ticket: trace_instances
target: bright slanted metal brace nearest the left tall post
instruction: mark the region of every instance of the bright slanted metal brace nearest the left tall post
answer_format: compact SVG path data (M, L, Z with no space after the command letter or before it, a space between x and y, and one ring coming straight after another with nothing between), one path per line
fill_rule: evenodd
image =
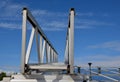
M35 35L35 28L32 28L32 32L30 35L30 40L29 40L29 44L28 44L28 48L27 48L27 53L26 53L26 63L25 64L28 64L28 61L29 61L29 56L30 56L30 52L31 52L31 48L32 48L34 35Z

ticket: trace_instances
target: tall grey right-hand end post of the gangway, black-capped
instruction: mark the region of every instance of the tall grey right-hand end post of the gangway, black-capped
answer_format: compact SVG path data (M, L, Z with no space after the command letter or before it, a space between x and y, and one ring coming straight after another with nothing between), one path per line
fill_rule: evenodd
M70 74L74 73L74 8L70 11L70 30L69 30L69 65Z

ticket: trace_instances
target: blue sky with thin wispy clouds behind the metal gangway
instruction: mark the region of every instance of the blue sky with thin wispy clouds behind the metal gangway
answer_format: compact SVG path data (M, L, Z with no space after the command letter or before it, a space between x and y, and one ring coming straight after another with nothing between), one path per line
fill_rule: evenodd
M1 0L0 69L19 70L23 7L32 12L58 51L59 61L64 59L68 14L74 7L75 65L119 66L119 4L120 0ZM32 55L31 61L36 61L35 49Z

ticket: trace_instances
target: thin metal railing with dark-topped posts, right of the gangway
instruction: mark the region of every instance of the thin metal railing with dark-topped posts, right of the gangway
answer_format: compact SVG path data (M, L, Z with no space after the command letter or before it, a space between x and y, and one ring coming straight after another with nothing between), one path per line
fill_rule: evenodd
M89 76L89 79L91 81L94 81L94 80L98 82L99 81L104 81L104 82L108 82L108 81L119 82L120 81L120 78L119 78L120 72L119 72L119 68L117 67L116 68L94 67L91 70L89 70L89 68L87 67L80 67L80 66L74 66L74 67L75 67L76 73ZM96 76L99 79L95 78Z

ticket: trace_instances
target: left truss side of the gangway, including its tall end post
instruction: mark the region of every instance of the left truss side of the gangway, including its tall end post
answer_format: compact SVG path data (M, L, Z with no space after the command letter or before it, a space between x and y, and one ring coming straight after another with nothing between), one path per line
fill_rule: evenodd
M32 32L30 35L28 46L26 46L26 33L27 33L27 20L32 25ZM40 35L40 42L38 37ZM52 46L48 38L45 36L44 32L30 13L27 8L23 8L23 22L22 22L22 57L21 57L21 73L26 72L26 66L29 62L29 56L31 53L31 48L33 44L34 36L36 36L36 45L38 52L38 62L41 63L53 63L58 62L58 53L55 48ZM27 50L26 50L27 47ZM44 55L46 51L46 62L44 62ZM52 53L51 53L52 51ZM55 56L53 56L53 53ZM52 58L51 58L52 56ZM53 58L54 57L54 58Z

